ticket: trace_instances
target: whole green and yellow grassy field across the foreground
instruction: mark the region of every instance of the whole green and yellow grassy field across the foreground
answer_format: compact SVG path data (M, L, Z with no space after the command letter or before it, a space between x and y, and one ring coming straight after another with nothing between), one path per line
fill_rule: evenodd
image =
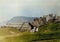
M60 23L48 23L39 27L39 31L35 33L1 28L0 36L5 37L1 42L60 42Z

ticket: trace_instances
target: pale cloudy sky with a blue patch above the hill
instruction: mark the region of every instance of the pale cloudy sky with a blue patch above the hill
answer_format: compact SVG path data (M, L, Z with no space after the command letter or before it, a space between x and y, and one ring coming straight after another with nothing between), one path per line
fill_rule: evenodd
M0 0L0 23L15 16L60 15L60 0Z

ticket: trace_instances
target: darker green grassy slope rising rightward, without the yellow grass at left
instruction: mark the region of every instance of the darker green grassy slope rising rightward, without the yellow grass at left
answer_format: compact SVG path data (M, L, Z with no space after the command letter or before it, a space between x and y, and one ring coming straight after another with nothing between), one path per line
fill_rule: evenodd
M28 40L27 40L28 39ZM7 37L7 42L60 42L60 23L48 23L35 33L25 32L18 37Z

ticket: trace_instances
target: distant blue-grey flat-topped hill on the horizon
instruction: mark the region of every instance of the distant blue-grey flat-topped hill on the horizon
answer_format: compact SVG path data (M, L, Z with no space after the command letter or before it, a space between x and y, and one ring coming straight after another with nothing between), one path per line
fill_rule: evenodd
M16 16L9 20L7 23L23 23L33 21L35 17Z

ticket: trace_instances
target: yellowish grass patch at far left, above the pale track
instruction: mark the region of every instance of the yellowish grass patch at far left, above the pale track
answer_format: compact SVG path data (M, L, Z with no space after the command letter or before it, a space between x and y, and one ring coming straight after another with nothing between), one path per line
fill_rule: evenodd
M13 33L19 33L19 31L15 28L0 28L0 36L10 35Z

